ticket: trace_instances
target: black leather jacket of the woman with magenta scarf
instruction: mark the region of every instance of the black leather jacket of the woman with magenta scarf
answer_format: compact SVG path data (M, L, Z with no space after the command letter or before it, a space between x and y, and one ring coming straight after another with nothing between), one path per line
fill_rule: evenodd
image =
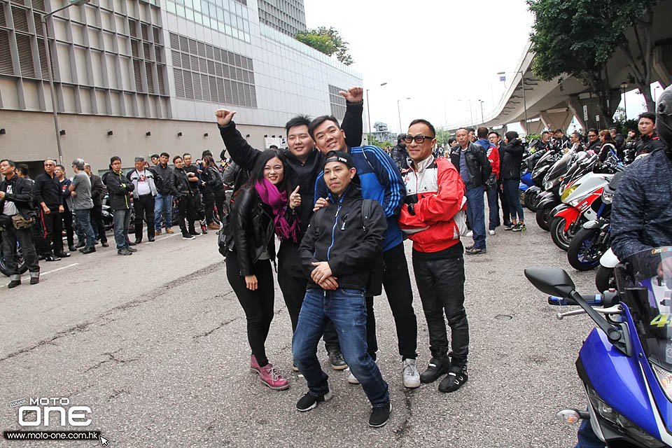
M293 213L287 208L288 221ZM245 186L232 197L230 214L231 235L240 265L240 275L253 275L252 266L263 253L275 260L275 225L271 208L261 202L253 186Z

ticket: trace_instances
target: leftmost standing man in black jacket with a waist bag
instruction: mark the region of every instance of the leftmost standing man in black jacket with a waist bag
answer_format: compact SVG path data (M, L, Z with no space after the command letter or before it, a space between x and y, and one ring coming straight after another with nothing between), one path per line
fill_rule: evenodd
M15 288L21 284L21 274L17 269L18 259L16 241L19 241L23 258L30 271L30 284L40 281L40 265L37 253L33 246L32 224L35 222L35 210L32 207L32 184L28 179L22 179L14 171L14 162L2 160L0 173L5 180L0 183L0 227L3 228L2 244L10 282L8 288ZM20 215L24 220L15 225L12 216ZM32 223L30 222L32 221Z

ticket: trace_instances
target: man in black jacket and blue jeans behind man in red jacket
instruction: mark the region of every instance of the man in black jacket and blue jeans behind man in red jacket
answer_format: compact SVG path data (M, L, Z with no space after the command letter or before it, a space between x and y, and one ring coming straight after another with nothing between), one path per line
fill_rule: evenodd
M461 127L455 137L458 145L452 148L450 160L458 168L466 188L467 216L474 237L474 244L465 253L479 255L487 252L483 195L492 167L485 149L469 140L468 130Z

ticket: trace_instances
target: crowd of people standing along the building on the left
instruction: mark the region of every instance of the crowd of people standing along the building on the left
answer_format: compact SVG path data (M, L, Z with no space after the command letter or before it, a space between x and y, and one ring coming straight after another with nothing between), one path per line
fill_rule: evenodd
M17 243L30 283L36 284L40 261L59 261L75 251L87 255L96 252L98 245L109 247L106 230L110 227L119 255L137 251L133 246L142 242L144 227L150 242L164 231L173 233L174 208L183 239L219 230L225 214L225 163L216 163L210 151L204 151L195 164L188 153L174 156L172 166L169 157L167 153L152 155L151 167L138 156L134 169L124 173L122 160L115 156L102 177L77 158L71 165L71 178L63 165L46 159L43 172L34 180L27 165L2 160L0 228L8 288L21 284ZM131 238L133 216L135 235Z

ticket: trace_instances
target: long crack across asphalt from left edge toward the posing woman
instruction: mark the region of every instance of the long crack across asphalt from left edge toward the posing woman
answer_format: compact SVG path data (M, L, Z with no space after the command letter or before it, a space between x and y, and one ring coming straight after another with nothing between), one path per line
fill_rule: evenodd
M89 330L90 325L93 325L96 321L99 321L100 319L106 319L110 320L108 316L113 314L116 311L126 311L127 309L131 309L134 307L139 306L140 304L144 304L145 302L150 302L151 300L156 300L161 295L167 293L167 291L170 288L173 288L174 286L180 286L181 284L185 283L186 281L191 282L191 281L197 281L203 276L206 276L207 274L211 274L216 267L219 267L221 265L221 262L214 262L211 265L208 265L206 267L202 267L201 269L198 269L195 272L192 272L191 274L183 275L177 279L174 279L172 281L169 281L168 283L165 283L161 286L158 286L157 288L154 288L152 290L149 290L147 293L144 293L143 295L140 295L136 300L132 300L130 302L127 302L125 304L120 304L116 307L113 307L112 309L109 309L108 311L105 311L103 314L99 314L96 318L94 318L93 321L85 322L85 323L79 323L78 325L75 325L71 328L68 328L67 330L62 330L57 332L54 336L48 338L48 339L43 339L37 344L34 344L32 346L24 347L23 349L19 349L17 351L14 351L12 353L8 353L8 355L3 356L0 358L0 363L3 361L6 361L8 359L14 358L15 356L22 355L24 353L29 353L31 351L34 351L35 349L39 349L47 344L53 344L54 341L57 339L62 339L64 337L69 337L71 335L75 335L80 332L85 332ZM116 320L116 318L112 318L112 321ZM107 322L109 323L109 322ZM106 325L107 323L104 323L103 325Z

